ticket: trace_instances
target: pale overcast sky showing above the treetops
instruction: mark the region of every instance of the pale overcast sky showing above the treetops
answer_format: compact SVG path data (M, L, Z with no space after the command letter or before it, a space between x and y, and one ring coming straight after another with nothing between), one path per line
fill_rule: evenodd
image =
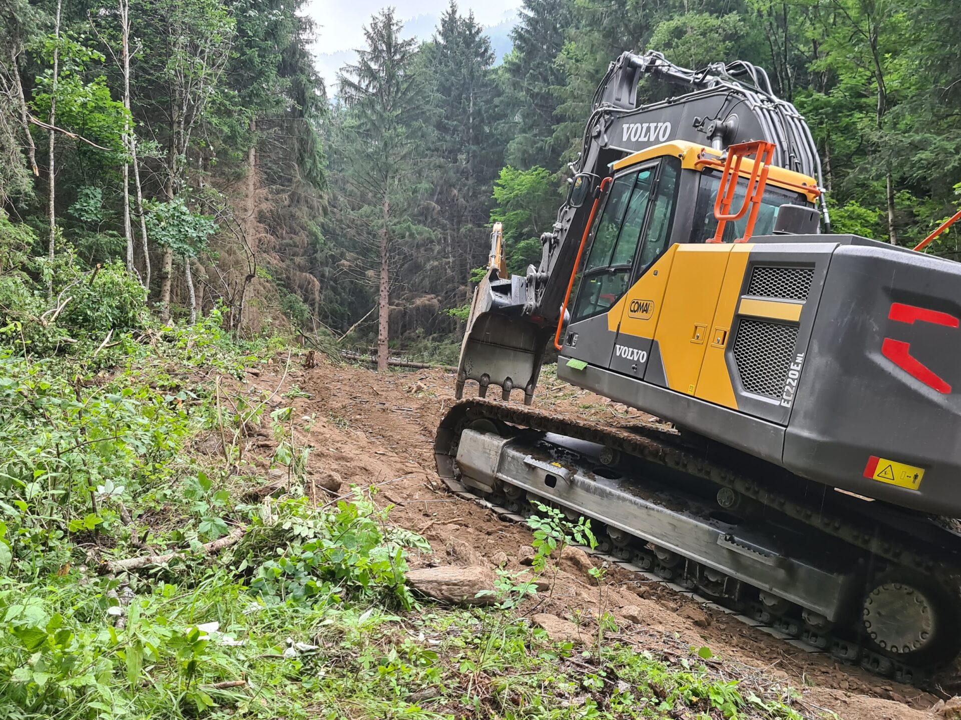
M350 51L363 47L362 28L375 12L393 5L398 17L404 21L421 15L440 17L448 3L449 0L310 0L306 12L316 24L314 53L317 67L328 83L328 91L333 89L333 78L340 65L354 59ZM521 0L460 0L457 5L462 13L473 10L481 25L490 26L512 18ZM422 24L416 23L418 30ZM428 31L423 39L430 36Z

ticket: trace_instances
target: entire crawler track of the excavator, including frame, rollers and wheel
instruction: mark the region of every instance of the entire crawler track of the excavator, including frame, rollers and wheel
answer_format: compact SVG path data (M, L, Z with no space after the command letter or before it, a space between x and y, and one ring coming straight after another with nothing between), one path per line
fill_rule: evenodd
M516 521L538 503L589 517L595 554L799 647L916 685L957 659L961 536L938 518L663 425L482 398L448 411L434 450L453 492Z

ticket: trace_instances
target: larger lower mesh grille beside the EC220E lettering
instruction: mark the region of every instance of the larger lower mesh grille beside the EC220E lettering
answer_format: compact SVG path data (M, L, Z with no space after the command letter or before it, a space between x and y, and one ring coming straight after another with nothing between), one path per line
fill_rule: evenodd
M734 340L734 358L744 389L780 397L797 339L797 325L742 320Z

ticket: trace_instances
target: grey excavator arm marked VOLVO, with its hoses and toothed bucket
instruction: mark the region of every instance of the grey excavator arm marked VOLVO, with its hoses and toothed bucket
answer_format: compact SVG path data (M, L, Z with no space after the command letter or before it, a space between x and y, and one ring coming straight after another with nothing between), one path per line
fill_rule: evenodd
M645 76L682 92L635 107L638 84ZM582 149L569 166L567 199L551 231L541 236L537 267L530 265L524 276L508 276L500 228L492 234L491 262L475 291L461 346L458 398L466 381L475 380L480 396L493 384L502 388L505 398L523 388L525 403L532 401L545 350L557 324L565 321L562 308L579 250L613 162L670 141L696 142L724 152L732 145L761 140L774 145L773 165L816 177L821 184L821 161L804 119L793 105L775 96L767 74L750 62L690 70L658 52L624 53L610 63L591 109ZM829 228L824 204L822 213Z

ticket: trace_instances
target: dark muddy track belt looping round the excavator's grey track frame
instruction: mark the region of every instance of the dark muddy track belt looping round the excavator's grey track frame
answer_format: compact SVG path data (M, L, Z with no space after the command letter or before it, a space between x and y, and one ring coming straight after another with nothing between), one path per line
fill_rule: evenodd
M438 472L453 492L490 507L506 519L526 521L526 516L533 512L533 508L527 502L529 493L533 498L545 499L546 504L554 504L557 507L562 505L557 503L555 498L546 496L547 493L542 490L543 486L537 488L540 492L535 492L532 486L524 487L521 483L518 487L520 495L518 492L513 492L515 496L521 497L521 501L518 502L505 498L503 492L496 487L485 488L482 483L474 483L475 487L472 488L463 482L465 478L460 477L457 466L460 435L479 421L501 428L508 436L533 430L539 433L557 433L579 441L604 445L613 453L627 453L664 468L672 468L709 481L719 489L728 489L746 502L757 503L792 521L802 523L812 533L837 540L839 547L848 546L851 550L856 550L862 557L870 560L869 577L882 580L897 578L901 572L904 577L918 578L922 584L928 583L932 587L936 584L937 591L941 593L939 600L950 603L949 607L941 606L942 612L947 607L947 612L956 617L958 608L961 607L957 592L959 565L955 562L958 548L949 546L950 543L942 548L943 552L935 556L931 552L925 552L930 550L929 539L918 543L922 545L921 548L911 546L910 536L906 533L896 533L892 537L892 534L881 532L883 528L879 530L878 520L874 516L844 517L832 512L836 509L825 506L824 503L819 507L810 501L805 502L803 498L775 492L768 478L758 476L756 463L754 465L748 463L749 472L734 470L729 464L709 458L702 448L684 444L677 432L653 423L641 422L629 427L604 427L598 423L572 422L562 416L516 405L484 399L464 400L448 412L438 428L434 448ZM506 442L509 442L509 438ZM531 462L531 469L535 469L536 464L544 463L544 460L531 458ZM761 466L760 469L763 470L764 467ZM544 467L540 470L548 471ZM504 479L499 478L501 481ZM505 504L496 502L497 500L505 501ZM580 512L583 508L574 507L568 510ZM785 612L785 608L780 604L783 593L777 595L770 591L771 588L758 587L742 578L722 572L716 566L700 563L691 558L690 554L683 556L682 562L678 563L677 559L670 557L673 553L670 547L658 546L654 543L656 552L650 550L649 545L646 553L637 553L636 550L632 550L626 554L623 541L619 545L618 541L611 537L613 535L623 540L623 533L619 531L628 530L629 532L629 528L623 527L624 523L612 525L611 518L598 516L598 513L594 513L593 516L591 513L581 514L602 523L605 529L613 529L611 534L602 535L604 542L595 554L605 560L618 563L628 570L645 573L647 579L656 578L658 582L678 591L690 593L697 591L696 599L723 609L724 612L729 612L738 619L747 621L748 624L766 626L765 632L770 631L771 635L781 636L791 644L802 646L811 652L829 652L839 660L859 663L871 672L909 684L924 685L936 672L937 667L944 664L944 661L907 662L899 659L897 655L892 657L890 652L885 652L873 643L868 633L860 627L858 618L845 618L846 623L838 632L839 626L835 622L837 618L827 617L811 608L806 608L799 615L798 605L789 602L786 606L788 612ZM944 537L946 540L957 539L947 531ZM640 538L640 540L647 539ZM615 554L611 555L611 551ZM662 556L664 551L669 554L671 562L661 562L659 556ZM717 592L718 586L705 583L704 578L707 576L713 577L715 582L720 579L720 582L725 585L725 590ZM732 589L728 588L729 583L734 583L735 586ZM714 592L709 591L712 588ZM743 588L749 588L749 591L743 592ZM956 623L953 627L956 627ZM948 654L956 655L956 650L955 647L951 647ZM941 655L944 654L941 653Z

